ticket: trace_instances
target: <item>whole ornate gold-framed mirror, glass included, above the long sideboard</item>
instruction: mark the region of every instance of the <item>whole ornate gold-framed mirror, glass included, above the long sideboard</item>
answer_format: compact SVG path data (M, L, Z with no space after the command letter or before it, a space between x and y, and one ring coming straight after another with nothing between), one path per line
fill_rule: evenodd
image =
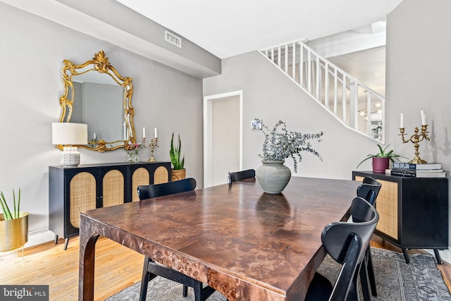
M134 144L132 78L121 76L104 51L81 65L63 62L59 122L86 123L88 129L88 145L75 146L105 152Z

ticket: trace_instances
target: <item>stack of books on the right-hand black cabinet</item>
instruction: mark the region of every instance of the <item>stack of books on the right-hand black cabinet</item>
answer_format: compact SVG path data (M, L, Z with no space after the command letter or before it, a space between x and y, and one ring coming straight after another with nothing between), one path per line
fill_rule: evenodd
M446 178L446 172L440 163L401 163L393 162L392 176L403 176L412 178Z

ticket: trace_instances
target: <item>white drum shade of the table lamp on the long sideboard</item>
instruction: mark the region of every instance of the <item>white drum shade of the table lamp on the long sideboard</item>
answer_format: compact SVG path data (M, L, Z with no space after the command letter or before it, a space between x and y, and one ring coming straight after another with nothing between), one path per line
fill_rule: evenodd
M87 124L51 123L51 143L54 145L87 145Z

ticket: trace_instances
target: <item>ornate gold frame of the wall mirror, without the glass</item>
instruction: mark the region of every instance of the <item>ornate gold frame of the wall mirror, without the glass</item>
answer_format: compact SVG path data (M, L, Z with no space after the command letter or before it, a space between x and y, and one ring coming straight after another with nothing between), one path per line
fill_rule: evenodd
M88 145L73 145L75 147L82 147L84 149L89 149L98 152L111 151L114 149L125 148L127 149L129 145L134 145L136 143L135 139L135 125L133 124L133 116L135 115L135 109L132 107L132 94L133 94L133 85L132 78L121 76L118 71L111 66L108 61L108 58L105 56L103 50L99 51L97 54L94 54L94 58L92 60L86 61L80 65L75 65L72 61L63 60L64 66L61 70L63 73L63 82L64 82L64 94L59 99L59 104L61 106L61 116L59 118L59 122L70 122L70 117L72 116L73 110L73 102L75 99L75 90L73 87L72 78L75 75L82 75L89 71L97 71L99 73L106 73L113 78L115 82L118 83L124 89L123 95L123 110L124 110L124 118L125 121L128 121L127 124L127 135L128 140L116 140L113 142L106 142L104 140L94 141L89 140ZM83 70L82 72L78 72L78 69L85 68L92 64L92 68L88 70ZM70 90L70 95L69 94ZM68 114L66 116L66 113ZM66 120L65 120L66 118ZM88 125L89 126L89 125ZM122 145L112 146L111 144L116 144L122 142ZM92 146L89 146L92 145ZM109 146L110 145L110 146ZM63 149L62 145L57 145L58 149Z

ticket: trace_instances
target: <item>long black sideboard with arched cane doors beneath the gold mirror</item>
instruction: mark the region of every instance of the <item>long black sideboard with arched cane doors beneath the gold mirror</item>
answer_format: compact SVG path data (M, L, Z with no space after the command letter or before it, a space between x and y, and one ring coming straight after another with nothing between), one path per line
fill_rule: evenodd
M171 180L171 162L49 166L49 229L65 239L78 235L80 211L139 201L138 185Z

